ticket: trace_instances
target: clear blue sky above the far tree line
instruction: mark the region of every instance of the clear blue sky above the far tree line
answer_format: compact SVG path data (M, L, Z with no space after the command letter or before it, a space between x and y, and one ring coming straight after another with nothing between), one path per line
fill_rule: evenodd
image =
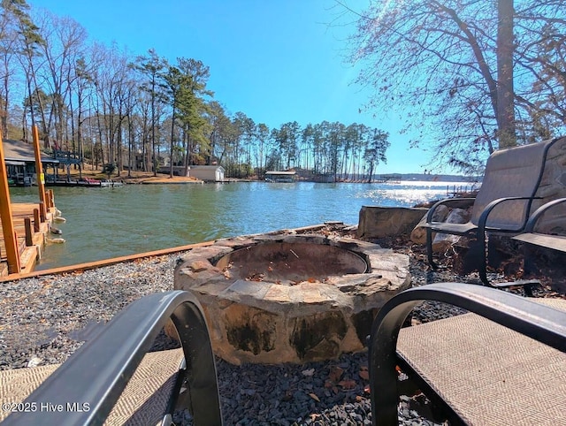
M347 0L363 11L369 0ZM200 59L210 67L208 87L229 112L279 127L321 121L363 123L390 133L387 164L379 173L421 172L427 154L409 149L395 118L402 111L364 110L371 91L354 83L348 64L353 18L333 0L28 0L85 27L91 40L174 63ZM334 22L331 25L331 22ZM362 112L360 112L362 110Z

